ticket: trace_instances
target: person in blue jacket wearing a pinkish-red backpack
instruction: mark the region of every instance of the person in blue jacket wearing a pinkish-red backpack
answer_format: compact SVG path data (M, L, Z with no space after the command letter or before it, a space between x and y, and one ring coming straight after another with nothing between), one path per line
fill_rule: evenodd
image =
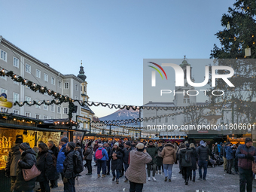
M100 177L100 170L102 169L102 178L105 178L106 175L106 162L108 160L108 153L103 148L102 143L98 143L99 148L97 148L95 154L94 154L94 161L97 161L97 174L98 178ZM99 151L99 152L98 152ZM102 153L102 158L101 159L96 159L96 154Z

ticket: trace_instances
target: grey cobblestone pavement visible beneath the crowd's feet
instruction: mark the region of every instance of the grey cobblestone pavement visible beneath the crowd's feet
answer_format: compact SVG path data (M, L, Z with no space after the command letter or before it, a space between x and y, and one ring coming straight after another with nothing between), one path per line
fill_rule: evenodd
M223 171L223 166L207 169L207 181L199 181L199 174L197 170L196 182L189 181L188 185L184 184L182 175L178 173L178 165L174 165L172 169L172 181L164 181L163 173L157 174L155 178L157 181L147 181L144 184L143 191L145 192L236 192L239 191L239 175L229 175ZM96 167L93 166L93 175L85 175L87 169L81 173L81 177L75 182L76 192L110 192L110 191L126 191L130 189L129 182L125 183L124 177L119 179L119 184L112 181L112 175L107 175L105 178L97 178ZM256 191L256 184L254 180L253 191ZM51 190L53 192L63 191L63 184L59 179L59 187Z

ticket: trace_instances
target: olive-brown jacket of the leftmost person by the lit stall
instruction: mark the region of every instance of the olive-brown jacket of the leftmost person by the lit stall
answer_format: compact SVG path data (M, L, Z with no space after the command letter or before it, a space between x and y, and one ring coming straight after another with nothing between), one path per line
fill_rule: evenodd
M15 144L9 151L5 168L5 175L8 177L16 176L18 160L20 160L19 145L20 144Z

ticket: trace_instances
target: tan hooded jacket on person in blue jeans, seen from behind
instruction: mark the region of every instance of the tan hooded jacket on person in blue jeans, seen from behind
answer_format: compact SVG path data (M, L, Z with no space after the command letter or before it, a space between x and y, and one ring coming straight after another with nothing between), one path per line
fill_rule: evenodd
M176 160L174 145L171 143L166 143L161 152L161 156L163 157L163 164L174 164Z

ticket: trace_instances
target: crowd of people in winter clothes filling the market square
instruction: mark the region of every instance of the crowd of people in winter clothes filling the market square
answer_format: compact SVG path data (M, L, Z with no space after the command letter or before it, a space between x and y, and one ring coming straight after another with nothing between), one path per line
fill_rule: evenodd
M75 178L81 176L83 169L87 169L86 175L92 175L94 161L98 178L111 174L112 181L118 184L119 178L124 177L124 182L130 182L130 192L139 192L147 179L157 181L157 173L163 172L163 181L171 182L174 164L178 164L185 185L189 181L196 181L197 169L198 180L206 181L209 160L216 156L223 159L224 171L228 174L234 174L234 164L235 173L239 174L240 191L245 191L245 188L248 192L252 191L252 162L256 157L256 148L252 146L250 138L245 139L245 145L215 143L212 149L203 141L197 146L187 141L180 144L152 140L69 142L66 137L60 140L59 148L52 141L47 144L39 142L38 146L30 148L28 143L17 138L8 154L5 172L6 176L11 177L11 191L14 192L33 191L36 181L40 184L37 191L49 192L50 188L58 187L59 175L64 191L75 192ZM41 174L25 181L23 169L31 169L33 165L37 166Z

